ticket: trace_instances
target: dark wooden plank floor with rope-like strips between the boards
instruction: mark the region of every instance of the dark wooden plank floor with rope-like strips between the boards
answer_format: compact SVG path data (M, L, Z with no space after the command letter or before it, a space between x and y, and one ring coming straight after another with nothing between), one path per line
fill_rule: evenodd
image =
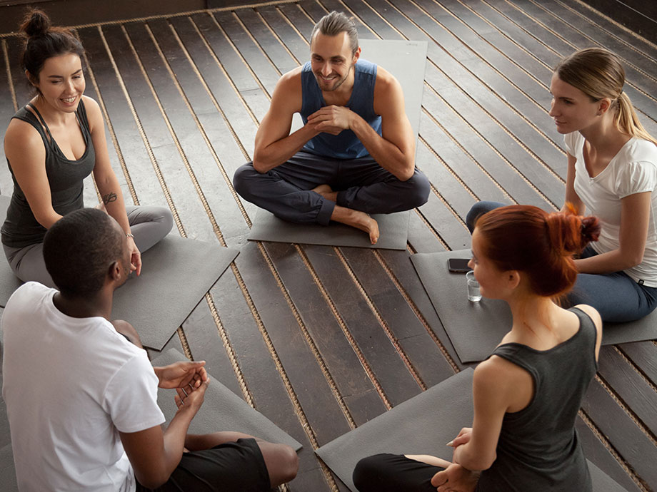
M363 39L428 41L417 165L432 190L407 251L245 239L256 207L232 175L277 79L309 58L312 26L333 9ZM657 46L577 0L302 0L77 33L126 200L170 207L184 237L241 248L167 348L206 359L304 444L291 491L345 491L313 449L463 369L409 256L468 247L464 217L480 199L561 206L566 157L547 113L561 56L621 55L626 93L657 135ZM0 46L7 122L29 90L16 37ZM0 190L11 193L6 169ZM657 490L656 385L655 341L603 347L578 419L587 456L628 491Z

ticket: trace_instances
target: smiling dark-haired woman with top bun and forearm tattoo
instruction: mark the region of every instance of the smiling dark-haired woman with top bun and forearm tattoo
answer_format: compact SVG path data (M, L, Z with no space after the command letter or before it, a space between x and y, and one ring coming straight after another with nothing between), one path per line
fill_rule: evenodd
M51 26L44 12L28 11L21 64L36 96L11 118L4 151L14 179L2 245L11 269L25 282L54 283L46 271L46 230L84 207L83 180L92 171L102 205L126 233L131 268L141 272L141 253L173 225L164 207L126 207L109 162L98 103L84 96L84 48L69 31Z

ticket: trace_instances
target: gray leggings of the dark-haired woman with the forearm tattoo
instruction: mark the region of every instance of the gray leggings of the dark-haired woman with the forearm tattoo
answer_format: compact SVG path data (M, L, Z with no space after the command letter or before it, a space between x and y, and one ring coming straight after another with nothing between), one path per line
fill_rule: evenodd
M174 225L174 217L164 207L126 206L130 230L140 252L149 250L164 238ZM44 262L44 243L25 247L4 247L9 267L23 282L34 280L46 287L55 287Z

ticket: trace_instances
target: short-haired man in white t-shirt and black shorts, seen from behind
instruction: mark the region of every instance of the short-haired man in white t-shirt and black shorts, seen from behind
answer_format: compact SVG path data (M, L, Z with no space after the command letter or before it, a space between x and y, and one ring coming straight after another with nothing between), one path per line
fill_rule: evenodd
M289 446L186 434L208 385L205 363L153 368L134 328L108 321L130 272L113 218L66 215L46 234L44 259L59 292L28 282L2 319L2 396L21 491L268 491L294 478ZM158 386L177 391L166 431Z

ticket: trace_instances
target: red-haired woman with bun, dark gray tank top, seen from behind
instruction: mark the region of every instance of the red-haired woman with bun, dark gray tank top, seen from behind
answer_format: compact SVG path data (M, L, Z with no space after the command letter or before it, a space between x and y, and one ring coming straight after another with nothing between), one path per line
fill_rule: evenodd
M554 299L576 280L573 255L599 234L597 218L573 207L511 205L478 217L470 266L484 297L508 303L513 324L474 371L472 427L448 444L453 463L364 458L353 471L358 491L592 491L575 421L596 374L602 322L591 306L563 309Z

